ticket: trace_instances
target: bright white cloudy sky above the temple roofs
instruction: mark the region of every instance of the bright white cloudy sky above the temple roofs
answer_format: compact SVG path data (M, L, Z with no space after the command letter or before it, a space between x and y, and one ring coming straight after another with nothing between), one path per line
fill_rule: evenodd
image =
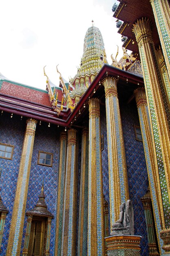
M64 79L74 77L83 54L88 27L102 33L108 63L116 55L117 33L112 6L116 0L3 0L0 24L0 72L8 79L46 88L46 77L59 85L56 65Z

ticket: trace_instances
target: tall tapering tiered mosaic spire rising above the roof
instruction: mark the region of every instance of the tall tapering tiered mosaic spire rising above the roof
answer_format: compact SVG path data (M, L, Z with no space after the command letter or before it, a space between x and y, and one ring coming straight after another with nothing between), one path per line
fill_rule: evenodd
M69 97L73 100L75 105L84 92L86 92L104 63L108 62L102 34L100 30L93 25L92 20L92 26L88 28L84 38L84 50L80 67L78 67L75 77L71 79L71 84L74 86L75 90L69 94Z

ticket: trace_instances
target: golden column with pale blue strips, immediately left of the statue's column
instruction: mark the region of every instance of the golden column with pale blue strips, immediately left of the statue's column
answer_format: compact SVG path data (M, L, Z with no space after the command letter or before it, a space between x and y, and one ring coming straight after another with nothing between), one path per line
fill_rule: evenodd
M88 101L88 104L89 155L87 255L103 256L105 254L105 243L99 99L92 98Z

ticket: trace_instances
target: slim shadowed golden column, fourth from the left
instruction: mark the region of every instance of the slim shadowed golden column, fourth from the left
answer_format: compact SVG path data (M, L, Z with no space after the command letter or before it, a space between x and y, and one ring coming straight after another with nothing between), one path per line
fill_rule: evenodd
M88 130L82 132L82 159L79 199L78 256L87 255L87 209L88 209Z

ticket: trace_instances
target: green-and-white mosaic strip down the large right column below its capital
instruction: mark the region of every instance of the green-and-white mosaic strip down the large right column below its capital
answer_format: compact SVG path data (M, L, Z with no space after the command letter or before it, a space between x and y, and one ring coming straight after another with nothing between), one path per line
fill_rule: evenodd
M165 179L165 171L163 166L163 157L161 152L161 146L160 146L160 139L159 139L159 132L157 127L157 119L155 115L155 108L154 103L152 99L152 92L150 88L150 81L149 81L149 75L144 55L144 49L143 47L140 47L141 51L141 57L144 67L144 76L146 81L146 87L148 92L148 99L149 99L149 105L150 105L150 114L152 119L152 127L154 132L154 139L155 139L155 147L156 147L156 153L157 153L157 163L158 163L158 170L159 170L159 179L160 179L160 185L161 185L161 195L163 200L163 211L164 211L164 218L165 218L165 225L166 228L170 227L170 217L169 217L169 200L168 200L168 191L167 191L167 185L166 185L166 179Z

